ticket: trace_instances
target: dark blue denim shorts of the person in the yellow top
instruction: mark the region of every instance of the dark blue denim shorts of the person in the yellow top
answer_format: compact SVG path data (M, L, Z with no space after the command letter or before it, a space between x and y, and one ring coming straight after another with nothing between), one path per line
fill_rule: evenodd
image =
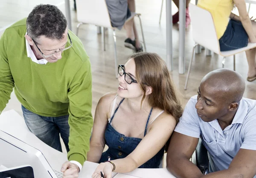
M223 36L219 39L221 51L243 48L248 45L248 35L241 22L230 20Z

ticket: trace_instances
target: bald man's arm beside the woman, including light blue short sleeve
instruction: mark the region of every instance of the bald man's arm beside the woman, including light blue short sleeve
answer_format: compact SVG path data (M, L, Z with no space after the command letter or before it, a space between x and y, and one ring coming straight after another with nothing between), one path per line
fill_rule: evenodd
M198 178L203 175L200 169L189 161L201 134L200 118L195 109L196 102L196 98L192 97L186 104L167 152L167 169L177 178Z

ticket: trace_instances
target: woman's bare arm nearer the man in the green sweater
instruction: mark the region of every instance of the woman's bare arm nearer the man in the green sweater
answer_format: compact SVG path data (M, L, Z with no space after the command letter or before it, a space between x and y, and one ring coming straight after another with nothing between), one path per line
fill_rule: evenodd
M87 154L87 161L99 163L103 149L105 147L105 130L108 125L107 113L110 110L111 102L114 100L114 95L106 94L100 98L97 104L93 133L90 139L90 151Z

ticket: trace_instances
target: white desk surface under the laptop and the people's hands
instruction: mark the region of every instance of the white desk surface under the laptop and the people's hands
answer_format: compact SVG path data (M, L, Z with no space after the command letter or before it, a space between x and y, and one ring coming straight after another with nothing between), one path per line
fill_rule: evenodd
M51 165L52 169L60 172L61 165L67 161L67 155L59 152L39 140L26 126L26 123L20 115L14 110L3 112L0 115L0 130L13 135L25 143L39 149ZM91 178L98 164L86 161L84 167L79 173L79 178ZM113 176L116 173L113 173ZM136 169L133 172L120 174L115 178L130 178L132 175L139 178L175 178L166 169Z

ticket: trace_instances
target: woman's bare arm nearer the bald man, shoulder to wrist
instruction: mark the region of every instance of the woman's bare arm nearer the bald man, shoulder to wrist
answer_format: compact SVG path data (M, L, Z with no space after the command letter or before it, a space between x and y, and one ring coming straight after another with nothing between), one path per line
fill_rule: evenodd
M165 112L149 127L148 133L140 144L126 158L113 160L115 172L131 172L151 159L166 144L175 128L176 121Z

